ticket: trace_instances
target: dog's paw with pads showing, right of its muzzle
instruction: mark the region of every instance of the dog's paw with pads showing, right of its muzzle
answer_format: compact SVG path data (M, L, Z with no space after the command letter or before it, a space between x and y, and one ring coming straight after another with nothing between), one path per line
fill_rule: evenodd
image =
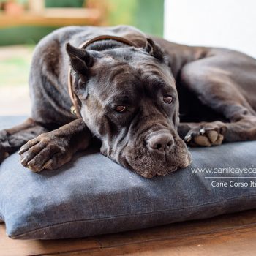
M222 144L227 127L221 121L200 124L190 129L184 140L189 146L218 146Z

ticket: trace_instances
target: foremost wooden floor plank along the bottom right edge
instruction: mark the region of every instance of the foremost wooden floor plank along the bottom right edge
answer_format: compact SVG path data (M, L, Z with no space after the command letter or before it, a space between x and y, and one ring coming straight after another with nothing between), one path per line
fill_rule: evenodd
M162 241L69 252L65 256L255 256L256 227Z

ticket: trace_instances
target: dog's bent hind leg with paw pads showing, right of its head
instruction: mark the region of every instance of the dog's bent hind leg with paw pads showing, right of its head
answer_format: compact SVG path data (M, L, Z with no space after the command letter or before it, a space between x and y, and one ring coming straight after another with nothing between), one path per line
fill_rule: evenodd
M183 86L203 103L201 108L208 106L227 121L181 123L181 138L192 146L256 140L255 69L254 59L236 52L185 65Z

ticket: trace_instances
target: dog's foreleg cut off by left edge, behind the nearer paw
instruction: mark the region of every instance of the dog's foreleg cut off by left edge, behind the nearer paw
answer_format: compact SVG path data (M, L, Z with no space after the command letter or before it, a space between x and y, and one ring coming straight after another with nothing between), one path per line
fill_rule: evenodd
M23 124L12 127L11 129L1 130L0 162L10 154L17 151L20 146L23 146L23 144L33 138L36 138L43 132L48 132L48 129L42 127L41 124L37 123L32 118L27 119Z

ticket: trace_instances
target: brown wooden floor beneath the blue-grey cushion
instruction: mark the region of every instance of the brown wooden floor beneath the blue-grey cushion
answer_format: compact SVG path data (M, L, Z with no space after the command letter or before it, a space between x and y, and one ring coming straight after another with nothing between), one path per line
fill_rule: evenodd
M22 241L5 236L0 255L256 255L256 210L89 238Z

